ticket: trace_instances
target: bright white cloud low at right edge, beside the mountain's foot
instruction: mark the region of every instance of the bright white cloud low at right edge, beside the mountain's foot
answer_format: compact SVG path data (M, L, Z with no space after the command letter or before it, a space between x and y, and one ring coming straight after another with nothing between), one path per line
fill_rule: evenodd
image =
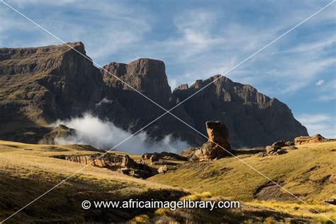
M336 117L324 113L304 113L296 118L308 129L309 135L321 134L325 138L336 138Z

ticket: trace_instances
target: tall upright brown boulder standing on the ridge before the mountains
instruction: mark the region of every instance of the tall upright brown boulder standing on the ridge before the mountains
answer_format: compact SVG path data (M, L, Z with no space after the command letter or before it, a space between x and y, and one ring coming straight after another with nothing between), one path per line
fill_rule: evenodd
M221 121L207 121L206 132L208 133L208 142L195 151L198 159L215 159L230 152L229 131Z

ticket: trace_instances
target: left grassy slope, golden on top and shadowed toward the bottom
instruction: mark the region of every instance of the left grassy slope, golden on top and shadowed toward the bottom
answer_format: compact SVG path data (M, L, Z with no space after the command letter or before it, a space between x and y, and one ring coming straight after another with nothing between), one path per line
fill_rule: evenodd
M86 148L91 150L91 147ZM88 150L79 145L30 145L0 141L0 220L84 166L49 156L96 153ZM179 189L90 166L14 215L9 223L128 220L144 211L84 211L80 206L83 200L177 199L182 195L184 192Z

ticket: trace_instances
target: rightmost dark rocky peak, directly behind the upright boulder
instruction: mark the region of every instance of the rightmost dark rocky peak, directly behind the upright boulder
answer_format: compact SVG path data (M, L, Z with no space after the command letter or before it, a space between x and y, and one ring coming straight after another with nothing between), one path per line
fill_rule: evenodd
M196 128L203 133L206 121L223 121L234 147L267 145L276 140L293 140L295 136L307 133L286 104L260 94L250 85L232 82L220 75L197 80L189 88L178 87L173 95L183 101L215 79L213 84L184 103L186 113L198 121Z

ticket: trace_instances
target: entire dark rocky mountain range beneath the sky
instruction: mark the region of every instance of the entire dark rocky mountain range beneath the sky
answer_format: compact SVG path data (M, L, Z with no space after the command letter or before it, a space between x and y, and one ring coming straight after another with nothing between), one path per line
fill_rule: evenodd
M86 54L82 43L70 44ZM172 93L164 62L159 60L139 59L128 65L112 62L104 69L97 69L67 45L1 48L0 138L24 133L21 141L34 142L45 134L43 125L81 116L86 111L120 128L135 131L164 110L119 79L169 109L216 77L197 80L190 87L181 85ZM172 113L205 135L206 121L223 121L230 131L233 147L267 145L308 135L284 103L225 77ZM146 131L153 138L170 134L191 145L204 142L194 130L170 115L160 118Z

